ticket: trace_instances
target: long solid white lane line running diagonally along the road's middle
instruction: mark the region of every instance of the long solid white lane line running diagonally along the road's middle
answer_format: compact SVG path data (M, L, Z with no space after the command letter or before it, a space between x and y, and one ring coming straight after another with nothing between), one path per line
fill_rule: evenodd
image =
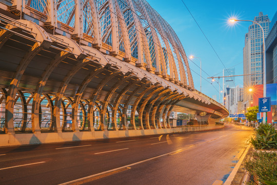
M119 167L119 168L116 168L116 169L108 170L108 171L106 171L106 172L101 172L101 173L94 174L94 175L90 175L90 176L83 177L83 178L80 178L80 179L71 180L71 181L69 181L69 182L64 182L64 183L61 183L61 184L58 184L58 185L72 184L72 183L74 183L74 182L79 182L79 181L82 181L82 180L85 180L85 179L89 179L89 178L92 178L92 177L96 177L96 176L99 176L99 175L103 175L103 174L106 174L106 173L110 173L110 172L114 172L114 171L121 170L121 169L124 169L124 168L132 167L133 165L136 165L136 164L140 164L140 163L147 162L147 161L150 161L150 160L153 160L153 159L157 159L157 158L160 158L160 157L164 157L164 156L167 156L167 155L176 153L176 152L182 152L182 151L188 150L188 149L190 149L190 147L192 147L192 146L194 146L194 145L191 145L191 146L189 146L189 147L184 147L183 149L179 149L179 150L176 150L176 151L173 151L173 152L169 152L169 153L166 153L166 154L162 154L162 155L159 155L159 156L156 156L156 157L152 157L152 158L149 158L149 159L145 159L145 160L142 160L142 161L138 161L138 162L135 162L135 163L131 163L131 164L125 165L125 166L123 166L123 167Z

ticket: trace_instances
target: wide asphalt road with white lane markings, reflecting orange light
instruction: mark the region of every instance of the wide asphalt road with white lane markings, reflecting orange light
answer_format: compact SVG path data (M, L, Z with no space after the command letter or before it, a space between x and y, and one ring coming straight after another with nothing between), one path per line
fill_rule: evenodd
M227 179L252 134L227 124L205 132L1 147L0 184L212 184Z

